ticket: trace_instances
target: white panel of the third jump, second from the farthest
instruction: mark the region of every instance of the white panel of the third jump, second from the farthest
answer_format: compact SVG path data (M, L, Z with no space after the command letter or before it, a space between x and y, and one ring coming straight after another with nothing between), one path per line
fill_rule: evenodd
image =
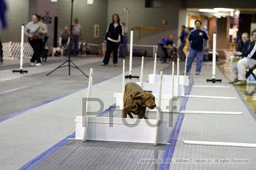
M158 94L159 83L150 83L143 82L142 85L140 82L136 82L143 90L151 90L153 94ZM179 91L178 91L179 88ZM179 94L177 94L179 92ZM174 85L174 96L184 96L185 89L182 84L179 86ZM172 95L172 85L169 83L162 83L162 95Z

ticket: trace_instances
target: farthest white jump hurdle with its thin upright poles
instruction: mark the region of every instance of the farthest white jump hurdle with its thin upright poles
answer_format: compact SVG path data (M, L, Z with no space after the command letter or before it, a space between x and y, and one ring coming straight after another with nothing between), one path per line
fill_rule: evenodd
M179 58L177 60L177 75L174 76L174 83L177 84L182 84L183 86L189 86L189 76L186 75L179 75ZM186 73L185 73L186 74ZM154 60L154 67L153 67L153 74L148 75L148 82L149 83L158 83L160 81L160 75L156 74L156 54L155 54L155 60ZM172 75L163 75L163 85L165 83L172 83Z

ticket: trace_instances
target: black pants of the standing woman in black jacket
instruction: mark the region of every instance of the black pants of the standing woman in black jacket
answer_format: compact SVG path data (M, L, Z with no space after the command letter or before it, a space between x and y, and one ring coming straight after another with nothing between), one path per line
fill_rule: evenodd
M118 46L119 46L119 43L115 43L115 42L112 42L112 41L109 41L109 40L107 41L107 49L106 49L105 57L103 59L103 63L108 64L110 54L111 54L112 50L114 50L113 63L114 64L117 63L117 60L118 60L118 57L117 57Z

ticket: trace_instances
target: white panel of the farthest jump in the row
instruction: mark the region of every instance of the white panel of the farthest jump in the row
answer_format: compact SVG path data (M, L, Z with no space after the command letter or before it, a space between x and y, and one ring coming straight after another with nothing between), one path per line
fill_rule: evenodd
M155 81L154 81L155 80ZM185 80L185 81L184 81ZM159 83L160 82L160 75L149 74L148 75L148 82L150 83ZM172 75L162 75L162 82L164 83L172 83ZM178 76L174 76L174 84L177 84ZM179 84L183 86L189 86L189 76L179 76Z

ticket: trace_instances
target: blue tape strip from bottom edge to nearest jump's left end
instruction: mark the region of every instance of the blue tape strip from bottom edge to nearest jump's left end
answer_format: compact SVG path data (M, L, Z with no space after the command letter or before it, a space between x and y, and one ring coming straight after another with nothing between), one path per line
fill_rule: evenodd
M23 165L19 170L29 170L29 169L31 169L35 164L39 163L41 160L43 160L44 158L51 155L54 151L58 150L63 145L66 145L69 138L74 138L74 137L75 137L75 132L72 133L71 135L67 136L65 139L62 139L60 142L53 145L47 151L44 151L43 153L41 153L39 156L35 157L31 161L29 161L27 164Z

